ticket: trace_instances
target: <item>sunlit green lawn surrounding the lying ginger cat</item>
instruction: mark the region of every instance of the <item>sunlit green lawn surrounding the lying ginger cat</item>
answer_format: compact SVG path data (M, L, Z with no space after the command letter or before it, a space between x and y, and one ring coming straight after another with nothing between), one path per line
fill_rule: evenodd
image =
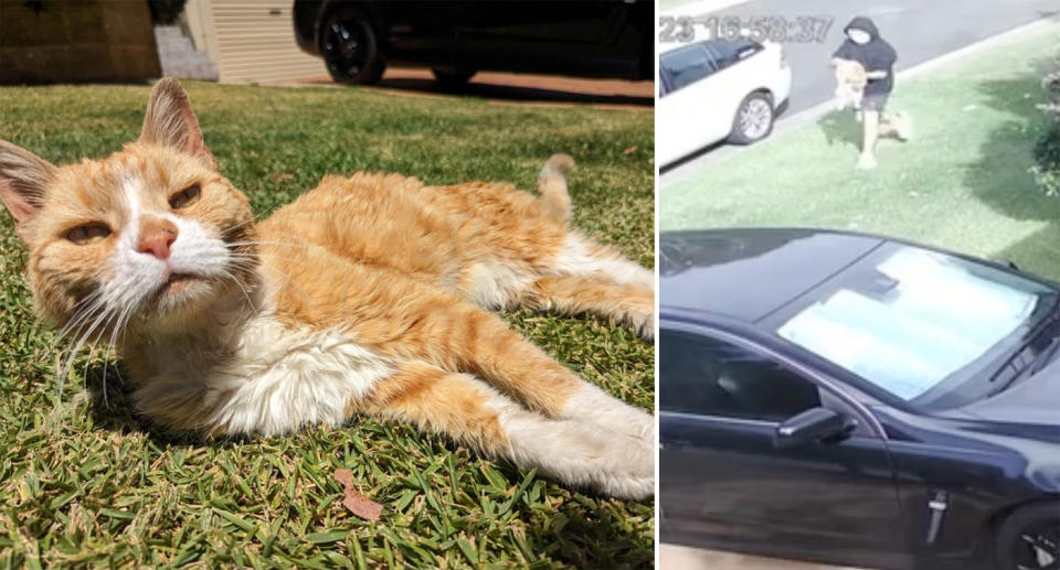
M326 173L532 190L568 152L575 225L654 265L650 110L495 106L354 88L186 84L220 170L265 215ZM57 163L135 138L148 86L0 88L0 138ZM645 567L654 505L572 492L407 426L362 420L284 438L199 442L138 418L84 355L38 324L25 254L0 214L0 568L42 566ZM651 408L653 347L591 318L509 322L583 377ZM110 358L116 365L117 358ZM87 390L85 389L87 387ZM348 514L349 467L382 519Z

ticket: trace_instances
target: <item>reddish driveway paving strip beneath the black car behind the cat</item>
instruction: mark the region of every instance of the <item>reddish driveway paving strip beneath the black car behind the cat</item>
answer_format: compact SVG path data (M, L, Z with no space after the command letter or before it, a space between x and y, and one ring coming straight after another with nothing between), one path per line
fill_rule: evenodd
M286 86L343 87L324 75L286 82ZM375 85L360 87L379 89L399 96L480 97L495 105L532 105L571 107L592 105L614 109L651 110L655 106L654 82L624 79L590 79L556 75L479 72L466 88L446 92L438 87L430 69L395 67L386 69Z

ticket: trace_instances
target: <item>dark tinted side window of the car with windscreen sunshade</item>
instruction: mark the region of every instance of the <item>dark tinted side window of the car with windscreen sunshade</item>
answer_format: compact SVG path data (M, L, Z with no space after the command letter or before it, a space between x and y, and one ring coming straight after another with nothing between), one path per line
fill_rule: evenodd
M659 336L659 384L664 411L782 421L820 406L817 386L778 363L678 331Z

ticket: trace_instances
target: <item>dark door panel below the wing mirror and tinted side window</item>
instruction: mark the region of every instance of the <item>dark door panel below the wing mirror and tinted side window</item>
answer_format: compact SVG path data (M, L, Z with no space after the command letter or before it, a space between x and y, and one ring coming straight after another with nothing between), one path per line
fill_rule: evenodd
M770 555L825 551L876 563L903 547L883 440L776 450L775 423L662 412L664 531ZM749 492L749 490L754 492Z

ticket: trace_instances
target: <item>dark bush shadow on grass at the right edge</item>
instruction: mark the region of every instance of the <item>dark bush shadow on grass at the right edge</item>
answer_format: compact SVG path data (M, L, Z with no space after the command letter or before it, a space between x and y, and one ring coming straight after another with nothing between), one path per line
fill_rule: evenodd
M988 135L976 161L964 165L964 184L981 202L1005 216L1048 224L993 257L1060 278L1060 198L1046 196L1029 172L1035 142L1050 127L1048 117L1037 107L1045 99L1040 82L1056 64L1053 57L1042 57L1032 62L1027 73L977 86L987 106L1013 118Z

